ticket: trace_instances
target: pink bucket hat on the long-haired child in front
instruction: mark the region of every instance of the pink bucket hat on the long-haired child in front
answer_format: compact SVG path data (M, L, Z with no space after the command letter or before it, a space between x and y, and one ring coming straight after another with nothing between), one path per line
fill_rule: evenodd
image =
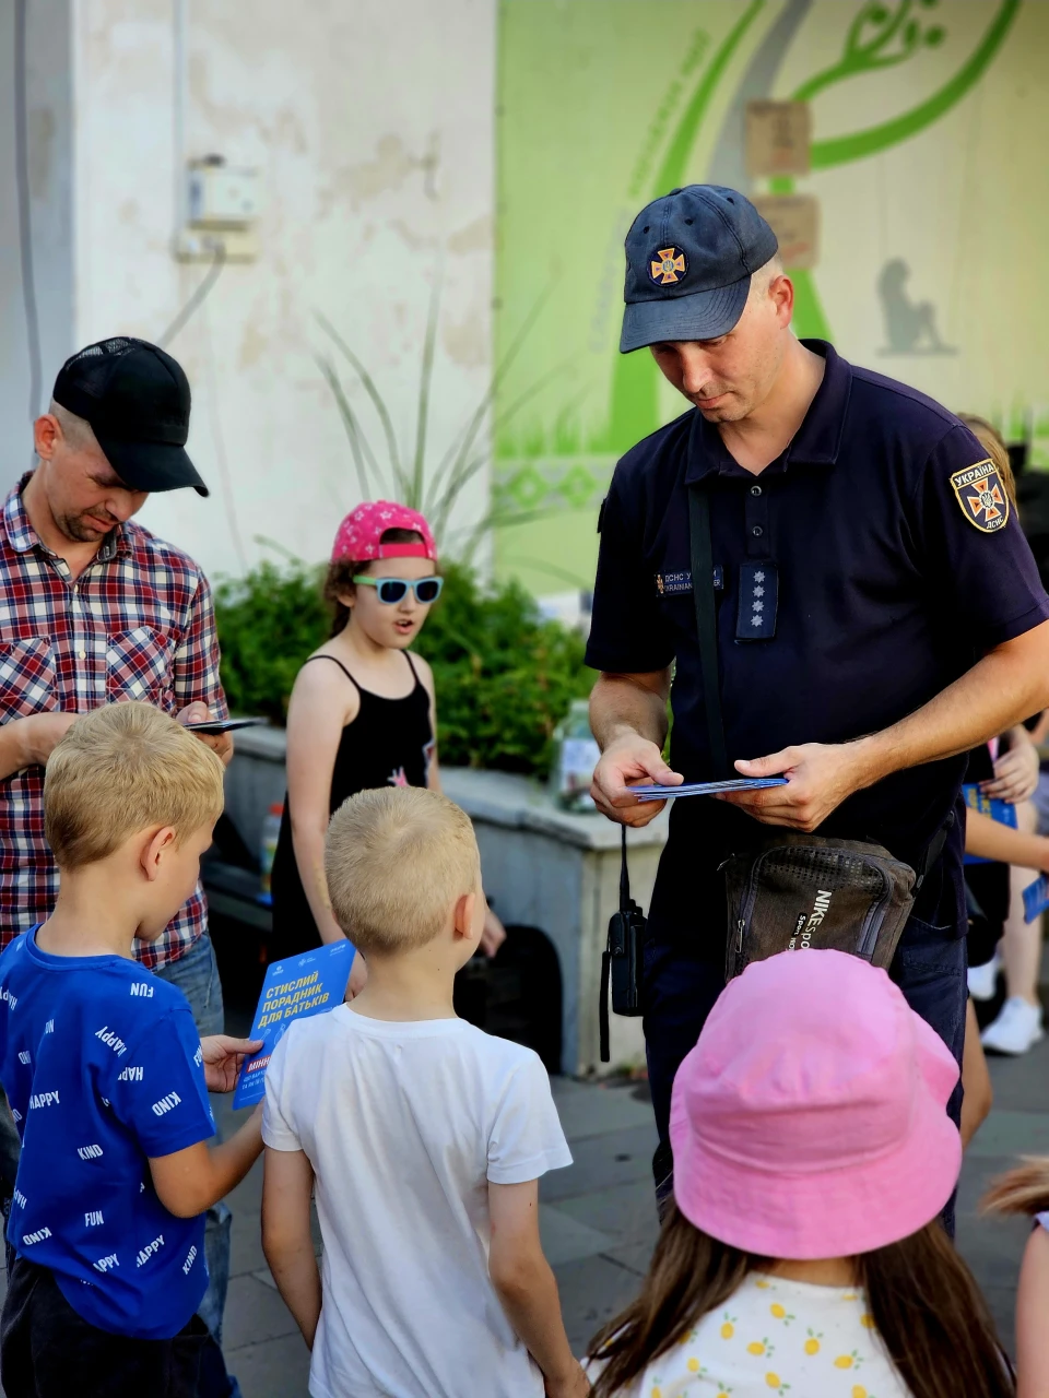
M958 1180L947 1046L884 970L780 952L730 981L677 1071L674 1197L759 1257L853 1257L934 1219Z

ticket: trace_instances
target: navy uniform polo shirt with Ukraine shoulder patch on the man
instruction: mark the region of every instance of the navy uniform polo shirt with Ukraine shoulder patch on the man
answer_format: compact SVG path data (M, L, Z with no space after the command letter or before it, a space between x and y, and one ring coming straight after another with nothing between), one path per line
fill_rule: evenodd
M1049 618L1015 512L1001 521L994 478L985 499L986 470L968 487L959 475L987 463L968 428L831 345L804 343L827 359L824 379L764 471L738 466L694 408L622 457L604 505L586 660L625 674L676 661L671 765L685 781L711 776L691 482L711 502L730 761L887 728ZM845 801L821 833L874 839L916 860L955 805L964 770L958 756L894 773ZM769 833L702 797L676 804L671 846L685 830L730 843Z

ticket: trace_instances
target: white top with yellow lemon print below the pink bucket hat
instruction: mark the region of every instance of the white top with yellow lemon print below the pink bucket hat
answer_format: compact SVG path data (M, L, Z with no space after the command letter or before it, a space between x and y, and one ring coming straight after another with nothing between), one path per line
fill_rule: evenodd
M908 1398L873 1327L859 1289L751 1272L621 1398Z

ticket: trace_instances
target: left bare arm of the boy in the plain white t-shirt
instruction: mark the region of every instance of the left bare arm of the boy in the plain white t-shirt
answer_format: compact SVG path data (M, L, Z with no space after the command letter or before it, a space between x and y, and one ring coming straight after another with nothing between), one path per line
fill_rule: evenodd
M302 1151L266 1146L263 1253L311 1349L320 1320L320 1272L309 1232L312 1191L313 1169Z

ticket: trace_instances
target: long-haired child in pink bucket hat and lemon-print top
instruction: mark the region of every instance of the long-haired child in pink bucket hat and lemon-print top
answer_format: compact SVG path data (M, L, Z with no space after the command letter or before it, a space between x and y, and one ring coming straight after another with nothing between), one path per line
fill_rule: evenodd
M674 1079L674 1206L590 1345L594 1398L1014 1394L939 1219L957 1081L857 956L783 952L730 981Z

